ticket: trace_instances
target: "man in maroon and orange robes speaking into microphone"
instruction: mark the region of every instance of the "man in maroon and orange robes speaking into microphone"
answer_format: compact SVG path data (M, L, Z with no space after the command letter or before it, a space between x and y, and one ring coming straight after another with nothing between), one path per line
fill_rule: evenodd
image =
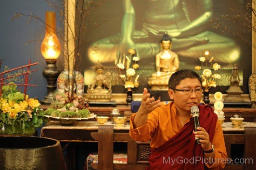
M168 82L173 102L161 105L144 88L141 106L130 118L130 136L135 141L151 140L147 170L223 169L227 162L222 126L208 105L200 105L201 77L192 70L175 72ZM190 113L198 106L200 127L194 132ZM201 145L195 143L200 138Z

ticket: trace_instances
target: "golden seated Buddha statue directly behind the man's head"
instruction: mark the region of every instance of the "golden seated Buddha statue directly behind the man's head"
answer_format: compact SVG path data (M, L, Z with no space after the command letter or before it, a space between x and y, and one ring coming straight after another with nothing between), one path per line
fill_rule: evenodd
M148 84L152 90L168 89L168 80L180 66L178 55L171 50L172 41L168 34L161 39L162 50L155 56L156 72L149 78Z

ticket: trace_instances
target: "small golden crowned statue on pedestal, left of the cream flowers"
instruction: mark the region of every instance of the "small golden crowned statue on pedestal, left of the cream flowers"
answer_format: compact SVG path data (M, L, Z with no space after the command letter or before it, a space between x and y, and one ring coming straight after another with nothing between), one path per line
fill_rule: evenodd
M110 101L111 84L108 82L110 73L104 73L104 67L101 63L95 65L96 75L92 84L88 85L87 95L88 101Z

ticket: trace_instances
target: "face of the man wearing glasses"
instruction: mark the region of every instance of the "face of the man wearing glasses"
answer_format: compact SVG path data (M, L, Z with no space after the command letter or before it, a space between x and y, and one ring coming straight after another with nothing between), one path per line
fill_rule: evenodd
M185 78L180 82L180 84L176 86L176 89L197 89L197 88L202 88L202 86L199 80L196 78ZM169 89L168 93L170 98L173 99L175 102L177 112L182 112L182 113L185 113L185 112L190 113L190 108L192 106L198 106L202 97L202 92L195 93L195 91L193 91L192 93L189 92L189 94L184 94L184 92L182 91Z

